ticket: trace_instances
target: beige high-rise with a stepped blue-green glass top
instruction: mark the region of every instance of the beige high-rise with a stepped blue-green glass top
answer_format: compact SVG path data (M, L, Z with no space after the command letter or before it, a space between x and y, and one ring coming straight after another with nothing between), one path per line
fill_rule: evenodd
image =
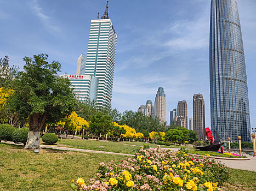
M158 117L162 122L166 122L166 94L164 94L163 87L158 88L156 94L154 117Z

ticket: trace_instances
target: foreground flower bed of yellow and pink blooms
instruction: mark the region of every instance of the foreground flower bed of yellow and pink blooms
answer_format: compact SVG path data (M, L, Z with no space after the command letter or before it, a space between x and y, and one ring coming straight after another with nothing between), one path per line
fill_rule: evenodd
M184 150L141 148L133 159L100 163L90 185L82 178L73 190L220 190L230 177L226 166L208 156L188 156Z

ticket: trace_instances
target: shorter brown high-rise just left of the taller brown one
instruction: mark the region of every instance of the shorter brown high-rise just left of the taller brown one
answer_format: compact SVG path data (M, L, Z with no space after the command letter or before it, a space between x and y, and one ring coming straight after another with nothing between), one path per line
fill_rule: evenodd
M178 119L182 122L176 121L177 126L185 127L187 129L187 102L180 101L178 102Z

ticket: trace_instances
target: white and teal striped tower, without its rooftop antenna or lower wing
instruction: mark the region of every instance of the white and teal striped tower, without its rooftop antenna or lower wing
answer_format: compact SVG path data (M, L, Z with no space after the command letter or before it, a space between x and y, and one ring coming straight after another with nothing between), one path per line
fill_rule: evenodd
M111 106L116 41L117 34L110 19L91 21L85 74L98 79L93 97L96 104L103 107Z

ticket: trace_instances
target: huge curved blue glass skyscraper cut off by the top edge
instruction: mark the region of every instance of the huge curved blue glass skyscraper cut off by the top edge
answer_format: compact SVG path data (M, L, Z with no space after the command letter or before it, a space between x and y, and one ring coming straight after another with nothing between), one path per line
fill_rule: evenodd
M210 25L212 132L251 141L243 40L235 0L212 0Z

